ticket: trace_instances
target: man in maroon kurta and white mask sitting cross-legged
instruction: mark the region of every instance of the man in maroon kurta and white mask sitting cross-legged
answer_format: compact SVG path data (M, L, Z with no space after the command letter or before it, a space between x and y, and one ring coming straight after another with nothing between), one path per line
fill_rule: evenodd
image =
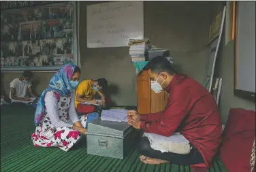
M218 107L212 95L197 81L185 74L176 73L166 58L154 58L148 62L144 70L148 70L151 89L155 92L164 89L169 92L169 99L165 110L161 112L138 114L134 110L129 111L127 114L129 124L146 133L163 136L171 136L175 131L180 132L189 140L191 146L195 148L195 152L199 154L197 159L202 157L202 160L196 161L193 160L195 156L178 155L171 152L163 153L163 156L160 156L161 152L157 152L159 157L167 158L159 159L143 155L140 156L142 162L159 164L167 163L173 159L174 162L187 160L189 162L182 162L180 165L191 165L195 171L206 171L212 165L212 158L217 153L222 132ZM140 146L143 147L143 145ZM144 152L147 154L150 151L155 150ZM154 156L153 154L150 155ZM172 158L168 158L168 156L172 156ZM175 161L176 159L178 161Z

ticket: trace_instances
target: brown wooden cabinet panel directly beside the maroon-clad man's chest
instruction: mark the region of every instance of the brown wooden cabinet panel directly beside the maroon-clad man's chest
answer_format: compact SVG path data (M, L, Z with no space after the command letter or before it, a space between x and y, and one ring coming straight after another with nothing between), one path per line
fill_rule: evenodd
M150 94L150 112L155 113L164 110L169 96L167 91L155 93L152 89L150 89Z

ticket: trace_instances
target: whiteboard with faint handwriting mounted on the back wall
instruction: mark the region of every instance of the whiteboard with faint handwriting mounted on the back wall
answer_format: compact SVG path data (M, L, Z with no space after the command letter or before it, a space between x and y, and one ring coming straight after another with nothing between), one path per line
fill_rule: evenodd
M143 1L87 5L87 47L127 47L144 38Z

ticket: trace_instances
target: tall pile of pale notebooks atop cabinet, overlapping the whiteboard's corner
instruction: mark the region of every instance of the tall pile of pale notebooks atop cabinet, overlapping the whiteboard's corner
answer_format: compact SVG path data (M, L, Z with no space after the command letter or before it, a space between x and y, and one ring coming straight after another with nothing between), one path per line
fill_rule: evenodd
M131 62L146 61L146 54L150 46L149 39L130 39L129 55L131 56Z

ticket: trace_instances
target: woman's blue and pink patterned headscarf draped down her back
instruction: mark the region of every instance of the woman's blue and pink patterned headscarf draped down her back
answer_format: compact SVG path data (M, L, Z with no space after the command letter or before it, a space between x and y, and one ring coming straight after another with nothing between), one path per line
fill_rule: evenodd
M61 67L61 69L54 74L50 83L40 95L38 100L37 109L35 110L35 125L38 125L40 121L44 118L44 96L47 91L53 91L58 93L61 97L68 97L72 93L72 89L69 85L69 81L74 74L76 68L75 64L66 64Z

